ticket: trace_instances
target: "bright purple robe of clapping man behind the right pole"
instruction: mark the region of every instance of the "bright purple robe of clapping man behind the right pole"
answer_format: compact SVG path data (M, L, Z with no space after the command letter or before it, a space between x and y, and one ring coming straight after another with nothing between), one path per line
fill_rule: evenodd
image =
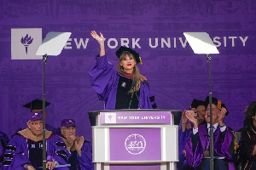
M224 134L224 135L223 135ZM234 153L234 137L233 133L230 132L230 128L226 127L226 130L221 134L220 128L214 132L214 156L223 156L227 161L229 161L229 170L235 169L232 162L232 155ZM193 132L190 133L189 138L185 144L187 161L190 167L198 167L203 159L203 153L206 149L206 145L209 145L210 138L208 136L208 129L206 124L200 125L198 127L199 139L195 148L193 148L192 141Z

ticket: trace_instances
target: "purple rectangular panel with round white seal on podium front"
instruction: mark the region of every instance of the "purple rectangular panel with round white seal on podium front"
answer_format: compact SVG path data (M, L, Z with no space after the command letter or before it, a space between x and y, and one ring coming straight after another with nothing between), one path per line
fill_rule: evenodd
M110 128L110 161L160 161L160 128Z

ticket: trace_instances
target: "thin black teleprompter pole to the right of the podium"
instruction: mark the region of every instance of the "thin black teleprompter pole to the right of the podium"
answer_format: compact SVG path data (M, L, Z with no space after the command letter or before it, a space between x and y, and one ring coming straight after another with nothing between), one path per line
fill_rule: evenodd
M211 75L211 56L207 54L209 64L209 105L210 105L210 170L213 170L213 125L212 125L212 75Z

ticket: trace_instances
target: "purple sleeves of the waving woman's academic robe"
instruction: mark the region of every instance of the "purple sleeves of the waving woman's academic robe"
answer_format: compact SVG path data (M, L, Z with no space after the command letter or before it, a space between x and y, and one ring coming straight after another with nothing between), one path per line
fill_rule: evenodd
M107 55L96 56L96 65L93 66L89 74L92 88L98 94L99 99L105 101L105 109L114 110L121 75L113 69L113 64L108 62ZM152 109L154 105L154 96L151 94L148 84L141 82L139 108Z

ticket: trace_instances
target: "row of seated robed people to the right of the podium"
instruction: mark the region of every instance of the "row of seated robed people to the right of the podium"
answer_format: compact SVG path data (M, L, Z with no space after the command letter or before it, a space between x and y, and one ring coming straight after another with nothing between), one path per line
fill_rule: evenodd
M183 111L178 132L177 169L210 169L209 97L193 99L189 110L197 115ZM224 117L229 115L226 105L212 97L214 169L256 169L256 101L243 113L244 126L234 132L224 124Z

